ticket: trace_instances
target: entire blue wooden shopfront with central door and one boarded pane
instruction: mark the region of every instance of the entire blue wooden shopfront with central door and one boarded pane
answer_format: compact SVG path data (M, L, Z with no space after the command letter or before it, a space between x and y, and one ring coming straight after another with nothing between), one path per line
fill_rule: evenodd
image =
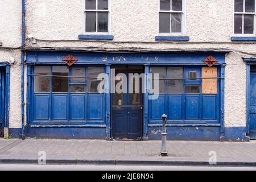
M166 114L168 139L222 140L225 53L27 51L26 136L160 139L161 115ZM70 67L63 61L67 55L77 59ZM207 93L202 77L209 68L203 62L208 56L217 63L211 67L216 71L211 78L216 80L216 92ZM138 69L146 75L147 92L139 96L136 106L129 102L130 96L124 96L117 100L125 109L113 109L112 68ZM105 80L106 93L95 90L96 72L110 78ZM160 73L162 78L159 97L154 100L149 92L150 73Z

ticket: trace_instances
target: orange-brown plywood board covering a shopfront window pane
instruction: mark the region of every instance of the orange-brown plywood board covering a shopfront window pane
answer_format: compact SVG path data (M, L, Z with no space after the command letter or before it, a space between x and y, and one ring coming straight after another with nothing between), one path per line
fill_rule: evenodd
M217 68L202 68L202 77L209 78L202 80L203 94L217 94Z

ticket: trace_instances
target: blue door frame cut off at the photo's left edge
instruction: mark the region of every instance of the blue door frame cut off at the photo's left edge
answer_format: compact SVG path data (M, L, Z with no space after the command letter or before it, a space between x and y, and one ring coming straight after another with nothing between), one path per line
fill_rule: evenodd
M0 107L1 107L1 137L3 129L9 127L9 100L10 100L10 65L7 62L0 63Z

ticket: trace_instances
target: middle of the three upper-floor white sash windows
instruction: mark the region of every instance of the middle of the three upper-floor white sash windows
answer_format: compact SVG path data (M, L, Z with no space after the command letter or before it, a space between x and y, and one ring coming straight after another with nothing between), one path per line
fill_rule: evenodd
M185 0L159 0L159 34L182 35Z

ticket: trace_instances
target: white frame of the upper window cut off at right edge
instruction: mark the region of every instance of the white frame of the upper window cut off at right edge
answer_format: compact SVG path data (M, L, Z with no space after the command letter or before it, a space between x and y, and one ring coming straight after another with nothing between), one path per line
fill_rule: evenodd
M235 11L235 0L234 0L234 19L233 19L233 34L234 36L255 36L256 35L256 0L255 1L255 10L254 13L246 13L245 12L245 0L243 0L243 12L236 12ZM242 15L242 34L235 34L234 32L234 27L235 27L235 14L241 14ZM254 15L254 22L253 22L253 34L244 34L244 19L243 19L243 15Z

